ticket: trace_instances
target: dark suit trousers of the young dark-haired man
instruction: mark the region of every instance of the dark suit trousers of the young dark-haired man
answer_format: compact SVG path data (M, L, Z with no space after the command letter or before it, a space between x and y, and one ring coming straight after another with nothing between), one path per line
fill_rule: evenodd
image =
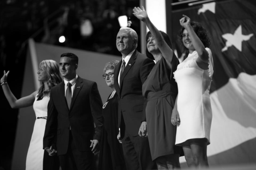
M70 131L67 153L65 155L59 155L59 163L62 170L93 170L94 154L91 151L78 151Z

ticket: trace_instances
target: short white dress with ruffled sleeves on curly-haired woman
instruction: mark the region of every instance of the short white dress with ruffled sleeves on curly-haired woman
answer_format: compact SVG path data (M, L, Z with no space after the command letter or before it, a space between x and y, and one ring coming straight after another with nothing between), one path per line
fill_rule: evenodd
M197 63L197 51L177 66L174 72L178 84L177 109L180 125L177 127L176 145L182 145L188 139L206 138L210 144L211 101L209 90L213 76L213 57L208 52L208 70L201 69Z

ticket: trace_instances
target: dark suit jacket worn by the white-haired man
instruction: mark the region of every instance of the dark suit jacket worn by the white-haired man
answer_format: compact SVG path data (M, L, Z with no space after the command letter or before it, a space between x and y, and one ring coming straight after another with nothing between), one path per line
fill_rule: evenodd
M121 65L122 60L115 68L114 85L120 99L118 104L118 126L122 138L125 129L132 136L138 135L141 122L146 121L145 108L147 101L142 96L142 84L155 63L146 55L135 50L120 77L119 86L118 75Z

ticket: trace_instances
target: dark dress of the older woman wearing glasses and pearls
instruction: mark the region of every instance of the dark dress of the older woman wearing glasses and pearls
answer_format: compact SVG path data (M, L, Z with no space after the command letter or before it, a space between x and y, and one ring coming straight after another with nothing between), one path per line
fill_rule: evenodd
M111 95L111 94L110 94ZM109 97L110 97L109 95ZM126 169L122 144L118 142L118 96L107 100L102 109L104 117L103 133L99 152L99 170Z

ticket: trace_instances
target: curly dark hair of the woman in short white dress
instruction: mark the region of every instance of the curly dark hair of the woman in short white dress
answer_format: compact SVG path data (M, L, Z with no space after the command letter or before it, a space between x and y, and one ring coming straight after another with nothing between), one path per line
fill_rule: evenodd
M211 45L210 35L209 35L209 32L203 27L203 25L198 22L195 22L195 21L191 21L190 25L192 26L196 35L202 41L205 48L209 47ZM187 49L182 42L182 34L183 34L184 29L185 28L182 27L181 30L178 32L178 38L179 38L179 42L181 43L182 52L183 53L185 52L186 54L188 54L189 49Z

